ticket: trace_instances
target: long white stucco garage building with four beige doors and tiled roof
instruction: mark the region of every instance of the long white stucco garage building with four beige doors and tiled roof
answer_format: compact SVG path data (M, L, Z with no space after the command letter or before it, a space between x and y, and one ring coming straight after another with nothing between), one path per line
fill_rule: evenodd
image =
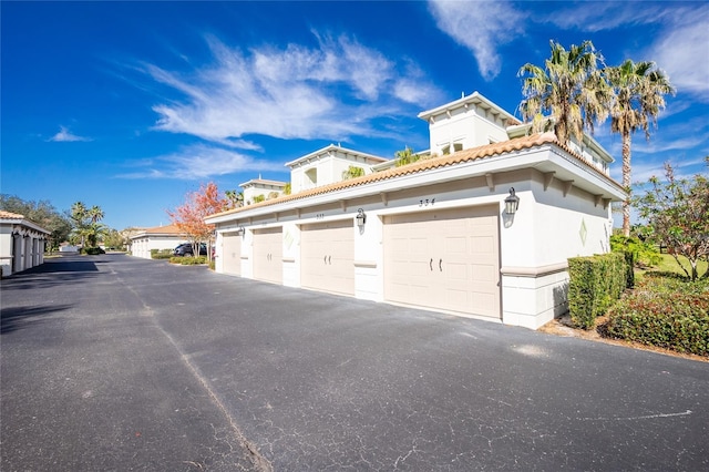
M567 258L609 250L610 155L527 135L479 93L419 116L430 158L328 146L287 164L291 195L209 216L216 270L532 329L565 312Z

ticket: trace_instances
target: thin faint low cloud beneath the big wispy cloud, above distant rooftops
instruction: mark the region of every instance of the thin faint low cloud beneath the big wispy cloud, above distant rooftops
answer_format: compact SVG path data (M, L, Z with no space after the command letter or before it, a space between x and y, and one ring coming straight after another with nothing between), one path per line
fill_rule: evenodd
M282 164L254 160L242 153L205 144L186 146L179 152L142 160L134 163L135 172L117 175L120 178L208 179L213 176L240 172L282 172Z

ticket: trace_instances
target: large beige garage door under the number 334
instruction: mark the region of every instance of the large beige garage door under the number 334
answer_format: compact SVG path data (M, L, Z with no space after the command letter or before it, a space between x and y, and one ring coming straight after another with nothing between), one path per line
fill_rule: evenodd
M384 218L384 298L501 318L496 206Z

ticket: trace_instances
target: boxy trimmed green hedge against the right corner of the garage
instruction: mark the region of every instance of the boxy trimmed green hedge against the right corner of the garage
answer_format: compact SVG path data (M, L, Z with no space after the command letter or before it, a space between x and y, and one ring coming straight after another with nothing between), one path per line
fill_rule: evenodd
M620 298L630 283L628 265L631 261L633 258L623 253L568 259L568 309L574 325L593 328L596 317L605 315Z

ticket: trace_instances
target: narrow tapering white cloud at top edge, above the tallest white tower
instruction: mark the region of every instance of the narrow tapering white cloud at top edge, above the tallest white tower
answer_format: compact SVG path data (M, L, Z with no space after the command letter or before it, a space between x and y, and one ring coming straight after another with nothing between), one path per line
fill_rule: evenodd
M523 31L525 16L506 1L432 0L429 7L438 28L471 50L483 79L502 69L497 49Z

